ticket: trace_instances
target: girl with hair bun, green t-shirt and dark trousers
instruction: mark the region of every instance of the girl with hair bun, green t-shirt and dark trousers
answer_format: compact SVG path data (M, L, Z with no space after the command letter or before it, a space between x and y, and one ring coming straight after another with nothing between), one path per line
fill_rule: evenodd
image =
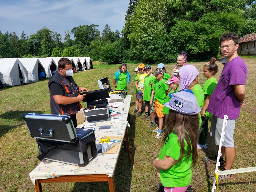
M206 82L202 86L204 92L204 102L202 105L201 118L202 123L199 128L199 139L197 144L197 149L206 149L207 148L207 136L208 136L208 120L212 116L211 113L207 112L208 104L211 98L211 95L217 85L217 80L214 77L215 73L218 72L218 65L215 63L216 58L212 58L208 63L204 65L203 75L207 78Z

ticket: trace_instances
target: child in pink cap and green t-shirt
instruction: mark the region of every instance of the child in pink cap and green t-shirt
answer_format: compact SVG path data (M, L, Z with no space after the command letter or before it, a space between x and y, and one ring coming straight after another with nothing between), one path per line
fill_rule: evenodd
M165 103L169 102L170 101L170 94L172 93L176 93L179 91L179 79L175 76L172 76L168 79L168 81L166 81L165 83L167 83L168 87L169 87L169 93L167 94L166 96L166 99L165 99ZM163 108L163 113L165 115L168 115L169 113L169 108L164 106Z

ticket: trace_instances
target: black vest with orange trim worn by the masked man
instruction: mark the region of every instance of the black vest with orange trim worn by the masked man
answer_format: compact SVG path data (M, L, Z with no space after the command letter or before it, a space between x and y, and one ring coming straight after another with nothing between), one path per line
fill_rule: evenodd
M61 114L61 115L71 115L76 114L81 109L80 102L71 103L68 105L59 105L55 102L53 95L51 93L50 89L50 83L55 82L62 86L64 90L64 95L66 97L77 97L79 95L78 90L76 88L76 83L72 76L69 76L70 81L68 81L64 76L59 74L59 71L57 71L49 80L48 87L50 91L50 105L51 105L51 114Z

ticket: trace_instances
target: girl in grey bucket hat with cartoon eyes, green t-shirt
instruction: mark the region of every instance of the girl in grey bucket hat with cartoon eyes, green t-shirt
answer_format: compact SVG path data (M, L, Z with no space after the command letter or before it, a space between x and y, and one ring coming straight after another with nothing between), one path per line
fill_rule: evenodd
M198 114L201 108L191 90L172 93L164 106L170 109L159 157L153 161L164 191L185 192L192 179L191 164L197 162Z

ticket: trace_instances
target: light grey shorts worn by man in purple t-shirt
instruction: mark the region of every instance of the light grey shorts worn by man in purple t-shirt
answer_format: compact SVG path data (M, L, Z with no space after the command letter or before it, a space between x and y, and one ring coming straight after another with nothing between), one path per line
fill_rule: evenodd
M234 147L233 135L234 135L236 122L237 122L236 119L228 119L227 126L225 126L225 129L224 129L225 137L224 137L224 141L222 142L223 147ZM210 136L215 137L216 145L220 145L222 125L223 125L223 119L212 115Z

